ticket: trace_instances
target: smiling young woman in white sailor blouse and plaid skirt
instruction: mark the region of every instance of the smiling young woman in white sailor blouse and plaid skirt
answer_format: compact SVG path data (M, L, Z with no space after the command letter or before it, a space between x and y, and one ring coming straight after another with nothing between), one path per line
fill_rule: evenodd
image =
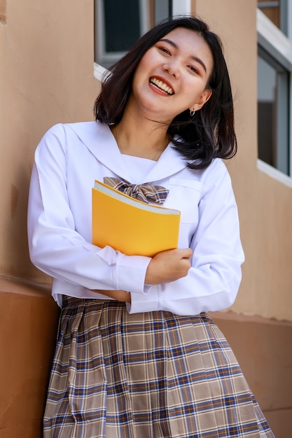
M95 116L51 128L32 172L30 254L62 307L44 437L273 437L207 315L234 302L244 261L218 36L195 17L158 24L113 66ZM167 189L179 248L92 245L91 189L107 177Z

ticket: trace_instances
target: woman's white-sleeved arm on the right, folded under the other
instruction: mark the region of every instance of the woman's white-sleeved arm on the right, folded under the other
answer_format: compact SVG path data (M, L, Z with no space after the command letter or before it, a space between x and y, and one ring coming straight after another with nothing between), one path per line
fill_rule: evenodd
M194 315L226 309L235 301L242 278L244 253L237 204L230 176L221 160L206 172L202 197L195 208L199 210L199 222L190 241L193 255L187 276L160 284L151 279L147 295L131 291L130 313L143 309ZM172 267L172 260L167 260L167 254L164 255L165 260L159 261L160 268L156 263L158 260L153 257L147 271L157 267L156 274L165 275L165 267ZM161 268L163 265L165 267Z

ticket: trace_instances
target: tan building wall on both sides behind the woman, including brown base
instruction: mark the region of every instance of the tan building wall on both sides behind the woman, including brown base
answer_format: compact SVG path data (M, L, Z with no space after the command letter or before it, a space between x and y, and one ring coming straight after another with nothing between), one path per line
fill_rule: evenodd
M237 301L215 313L277 438L289 436L291 188L258 171L256 0L193 0L221 35L235 96L239 152L227 162L246 253ZM41 437L59 309L27 250L29 176L57 122L92 120L93 1L0 0L0 438ZM256 319L254 319L256 318ZM276 433L277 431L277 433Z

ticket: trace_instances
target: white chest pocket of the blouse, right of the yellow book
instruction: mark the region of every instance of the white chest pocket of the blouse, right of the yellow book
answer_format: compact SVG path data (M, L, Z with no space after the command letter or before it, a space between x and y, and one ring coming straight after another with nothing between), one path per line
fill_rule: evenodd
M202 183L179 178L170 178L169 194L165 206L181 211L181 223L197 225L198 205L202 194Z

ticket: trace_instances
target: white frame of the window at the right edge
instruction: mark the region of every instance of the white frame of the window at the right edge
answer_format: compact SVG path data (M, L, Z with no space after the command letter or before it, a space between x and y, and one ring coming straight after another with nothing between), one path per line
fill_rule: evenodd
M292 0L288 0L287 6L292 6ZM292 10L292 9L290 9ZM289 169L290 175L286 175L278 169L260 160L257 160L257 167L260 171L268 174L277 181L292 187L292 42L283 32L275 26L266 15L257 8L256 10L258 45L266 50L285 69L290 72L290 95L289 95Z

